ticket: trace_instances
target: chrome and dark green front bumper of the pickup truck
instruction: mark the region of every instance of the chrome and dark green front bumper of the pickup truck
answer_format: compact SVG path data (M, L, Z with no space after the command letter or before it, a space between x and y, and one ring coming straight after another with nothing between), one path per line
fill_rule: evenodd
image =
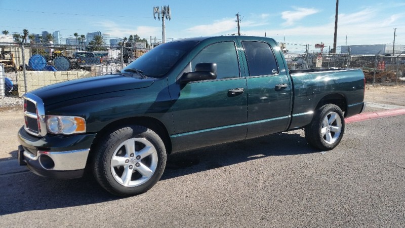
M47 135L39 138L18 132L20 165L39 176L71 179L82 177L95 134L60 136Z

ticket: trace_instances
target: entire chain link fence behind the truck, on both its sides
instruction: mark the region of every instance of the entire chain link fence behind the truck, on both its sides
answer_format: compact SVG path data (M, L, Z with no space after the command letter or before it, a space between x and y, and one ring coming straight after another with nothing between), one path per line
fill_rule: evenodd
M114 73L148 49L121 46L0 43L0 97L58 82ZM289 69L361 68L369 84L404 84L405 55L285 54Z

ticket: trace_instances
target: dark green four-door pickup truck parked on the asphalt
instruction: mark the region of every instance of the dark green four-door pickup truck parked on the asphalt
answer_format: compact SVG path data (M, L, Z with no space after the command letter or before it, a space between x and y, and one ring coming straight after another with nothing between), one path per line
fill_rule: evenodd
M309 145L333 149L364 92L360 69L288 70L273 39L184 39L121 72L26 93L18 160L53 178L90 169L108 192L132 196L181 151L302 128Z

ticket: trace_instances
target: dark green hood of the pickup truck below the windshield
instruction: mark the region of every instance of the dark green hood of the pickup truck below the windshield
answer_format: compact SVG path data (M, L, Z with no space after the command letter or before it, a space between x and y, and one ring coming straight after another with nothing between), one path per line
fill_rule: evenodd
M56 83L29 93L40 97L45 105L49 105L97 94L145 88L151 86L154 80L154 78L139 78L134 74L107 74Z

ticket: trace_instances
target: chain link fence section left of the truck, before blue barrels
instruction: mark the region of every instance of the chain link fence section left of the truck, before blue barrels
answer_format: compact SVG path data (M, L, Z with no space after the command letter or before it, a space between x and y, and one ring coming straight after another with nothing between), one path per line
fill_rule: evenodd
M0 43L0 97L73 79L115 73L148 49Z

